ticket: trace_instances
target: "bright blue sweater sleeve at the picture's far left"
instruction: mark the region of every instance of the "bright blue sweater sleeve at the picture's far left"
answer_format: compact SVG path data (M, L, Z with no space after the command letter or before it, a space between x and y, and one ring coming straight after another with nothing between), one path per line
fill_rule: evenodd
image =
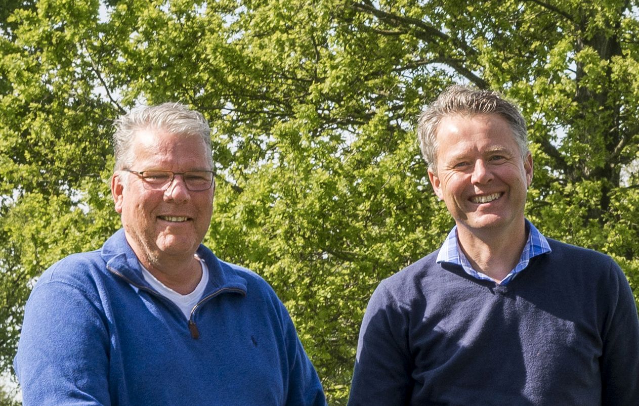
M36 285L13 361L24 405L111 404L108 335L95 302L66 282Z

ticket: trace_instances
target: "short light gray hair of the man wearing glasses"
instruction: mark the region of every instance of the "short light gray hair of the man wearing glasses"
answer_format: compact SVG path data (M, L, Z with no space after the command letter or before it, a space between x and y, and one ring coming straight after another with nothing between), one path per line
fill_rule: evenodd
M114 170L132 165L135 156L131 144L135 133L141 130L164 130L184 137L200 137L206 154L213 165L211 129L204 116L181 103L162 103L155 106L139 106L114 121L113 133L116 164Z

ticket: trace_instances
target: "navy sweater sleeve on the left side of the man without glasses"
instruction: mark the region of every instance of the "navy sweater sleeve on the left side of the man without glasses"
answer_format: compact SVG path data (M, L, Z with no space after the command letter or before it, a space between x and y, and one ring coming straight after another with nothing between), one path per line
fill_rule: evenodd
M406 405L412 391L408 315L382 282L366 308L349 406Z

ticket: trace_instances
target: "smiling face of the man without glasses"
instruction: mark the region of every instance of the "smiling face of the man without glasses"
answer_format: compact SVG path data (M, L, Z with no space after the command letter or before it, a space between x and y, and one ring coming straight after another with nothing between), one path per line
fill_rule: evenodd
M522 158L508 123L497 114L444 117L437 142L437 173L428 176L459 232L524 232L532 156Z

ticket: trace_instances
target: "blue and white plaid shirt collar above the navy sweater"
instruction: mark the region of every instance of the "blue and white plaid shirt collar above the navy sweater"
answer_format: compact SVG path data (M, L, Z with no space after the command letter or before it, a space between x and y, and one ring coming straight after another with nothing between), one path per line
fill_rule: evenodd
M526 228L528 229L528 241L526 241L526 245L523 247L520 260L514 269L499 282L500 285L507 285L511 282L512 278L528 266L528 262L532 257L550 252L550 246L548 245L548 241L546 241L546 237L544 237L539 230L535 229L535 226L528 220L526 220ZM437 255L437 263L439 264L440 262L450 262L451 264L459 265L463 267L467 274L477 279L493 280L489 278L488 275L475 271L470 265L468 258L466 258L466 255L459 250L457 226L450 230L448 237L446 237L442 244L442 248L440 248L440 252Z

